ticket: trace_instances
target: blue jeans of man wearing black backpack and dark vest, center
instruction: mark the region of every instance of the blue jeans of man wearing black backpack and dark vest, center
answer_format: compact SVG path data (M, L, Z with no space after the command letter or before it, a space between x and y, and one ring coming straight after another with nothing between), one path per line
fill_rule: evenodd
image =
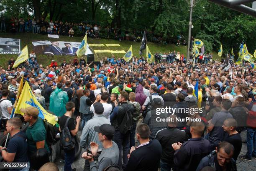
M118 166L122 167L122 147L123 147L123 165L126 167L128 163L128 151L129 151L129 137L130 132L122 134L119 130L115 130L114 141L118 145L119 159Z

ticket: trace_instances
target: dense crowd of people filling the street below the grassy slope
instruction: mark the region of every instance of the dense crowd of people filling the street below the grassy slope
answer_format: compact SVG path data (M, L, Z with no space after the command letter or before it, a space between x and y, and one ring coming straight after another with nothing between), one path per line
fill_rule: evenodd
M41 106L58 116L62 136L69 132L73 140L82 131L84 171L236 171L238 157L256 158L256 70L247 63L221 70L221 62L206 60L210 54L193 66L174 54L156 53L154 64L106 57L99 67L75 57L12 69L11 59L8 69L0 67L2 128L12 137L0 147L3 159L38 170L36 154L49 153L37 108L21 111L26 133L19 118L10 119L22 75ZM74 146L64 145L64 171L75 170Z

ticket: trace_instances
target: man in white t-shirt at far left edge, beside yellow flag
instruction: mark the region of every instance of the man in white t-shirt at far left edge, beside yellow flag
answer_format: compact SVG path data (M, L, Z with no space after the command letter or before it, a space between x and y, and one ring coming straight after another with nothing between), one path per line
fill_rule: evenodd
M0 100L0 108L2 111L2 115L0 116L0 119L2 120L4 128L6 127L6 122L8 119L10 119L13 104L10 100L8 100L9 90L3 89L2 90L2 99ZM5 130L4 135L7 134L7 131Z

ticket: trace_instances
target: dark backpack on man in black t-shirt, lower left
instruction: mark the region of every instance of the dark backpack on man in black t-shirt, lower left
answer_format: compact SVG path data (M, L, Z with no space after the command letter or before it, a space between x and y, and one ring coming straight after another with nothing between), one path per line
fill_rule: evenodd
M70 119L70 117L67 119L67 121L63 127L63 130L61 131L61 136L60 136L60 140L59 140L59 145L64 150L72 150L76 146L74 136L71 135L69 128L68 128L69 119Z

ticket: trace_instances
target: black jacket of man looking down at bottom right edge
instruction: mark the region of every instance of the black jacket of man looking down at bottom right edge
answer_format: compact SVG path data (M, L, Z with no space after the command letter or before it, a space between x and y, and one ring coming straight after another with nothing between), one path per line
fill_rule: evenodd
M211 154L208 156L205 156L201 161L200 164L197 167L196 171L200 171L205 166L210 166L214 168L216 171L222 171L220 165L218 164L217 160L217 153L216 151L212 151ZM232 158L230 163L227 165L226 171L236 171L236 161Z

